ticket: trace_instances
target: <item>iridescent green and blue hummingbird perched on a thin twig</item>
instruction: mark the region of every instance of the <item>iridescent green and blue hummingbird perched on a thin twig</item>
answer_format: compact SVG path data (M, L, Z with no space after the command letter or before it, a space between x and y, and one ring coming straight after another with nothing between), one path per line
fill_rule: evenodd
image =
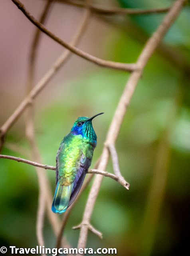
M92 120L101 114L77 118L61 141L56 155L55 195L51 206L57 214L65 212L72 204L83 184L97 144Z

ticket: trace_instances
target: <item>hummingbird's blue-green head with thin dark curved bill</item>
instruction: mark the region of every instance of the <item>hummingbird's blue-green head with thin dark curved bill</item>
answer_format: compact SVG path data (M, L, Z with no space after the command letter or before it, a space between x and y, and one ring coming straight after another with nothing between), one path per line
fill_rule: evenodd
M71 132L74 135L81 134L83 137L96 142L97 136L96 136L95 131L92 126L92 120L93 120L93 118L95 118L96 116L99 116L101 114L103 114L103 113L96 114L95 116L92 116L90 118L87 116L80 116L74 122L73 127L71 128Z

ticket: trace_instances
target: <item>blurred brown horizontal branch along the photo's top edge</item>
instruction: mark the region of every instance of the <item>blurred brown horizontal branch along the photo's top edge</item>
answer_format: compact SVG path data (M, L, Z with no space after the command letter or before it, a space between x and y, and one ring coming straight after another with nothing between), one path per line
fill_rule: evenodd
M55 2L61 2L65 4L71 4L73 6L77 7L86 7L85 2L82 1L77 1L77 0L55 0ZM147 9L147 10L142 10L142 9L132 9L132 8L119 8L119 7L114 7L114 8L108 8L108 7L99 7L97 5L91 4L89 6L92 12L95 12L97 14L105 14L105 15L114 15L114 14L136 14L136 15L142 15L142 14L154 14L154 13L163 13L163 12L168 12L170 7L165 7L165 8L153 8L153 9Z

